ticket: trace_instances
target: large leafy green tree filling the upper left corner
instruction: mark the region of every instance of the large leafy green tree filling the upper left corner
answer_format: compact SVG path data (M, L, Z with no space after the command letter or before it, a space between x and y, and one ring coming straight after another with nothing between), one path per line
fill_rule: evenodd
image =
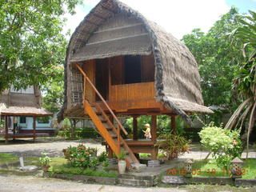
M0 93L42 85L63 63L64 19L81 0L0 1ZM66 7L66 9L64 8Z

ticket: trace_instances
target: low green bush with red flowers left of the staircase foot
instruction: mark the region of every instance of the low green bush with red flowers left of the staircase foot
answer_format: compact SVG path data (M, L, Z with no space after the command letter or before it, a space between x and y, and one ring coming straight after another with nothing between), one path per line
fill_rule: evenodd
M95 148L86 148L86 146L80 144L78 146L69 146L62 150L64 157L70 162L71 166L82 168L95 168L98 166L97 158L90 158L95 154ZM92 163L93 162L93 163Z

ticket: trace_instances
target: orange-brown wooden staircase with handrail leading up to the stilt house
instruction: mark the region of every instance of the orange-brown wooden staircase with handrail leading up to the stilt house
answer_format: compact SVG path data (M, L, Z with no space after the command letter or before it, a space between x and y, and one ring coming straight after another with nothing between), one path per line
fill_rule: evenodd
M106 115L104 110L102 110L101 106L99 106L97 103L90 104L90 102L86 100L85 96L83 99L84 112L90 116L90 118L94 122L94 125L97 127L98 132L102 135L102 138L106 140L107 144L110 146L111 150L113 150L114 154L118 155L121 150L125 150L127 166L130 166L131 163L139 163L133 151L130 150L130 147L126 144L125 140L121 136L121 130L124 134L127 134L121 122L119 122L118 118L110 109L110 106L107 105L104 98L102 98L102 95L98 92L94 84L90 82L90 79L86 76L86 73L82 70L82 68L78 66L78 64L76 66L84 76L83 95L86 95L86 82L89 82L90 86L93 87L95 93L98 94L99 98L101 98L102 102L106 106L106 109L109 110L108 114L110 114L114 121L117 122L118 127L116 128L114 126L114 122L110 121L109 116Z

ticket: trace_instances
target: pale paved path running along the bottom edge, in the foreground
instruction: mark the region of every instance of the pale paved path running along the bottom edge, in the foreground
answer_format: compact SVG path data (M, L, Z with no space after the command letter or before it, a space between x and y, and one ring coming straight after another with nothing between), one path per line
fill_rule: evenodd
M34 178L34 177L18 177L14 175L0 175L0 192L186 192L177 188L162 187L129 187L129 186L103 186L97 184L84 184L79 182L69 182L54 178Z

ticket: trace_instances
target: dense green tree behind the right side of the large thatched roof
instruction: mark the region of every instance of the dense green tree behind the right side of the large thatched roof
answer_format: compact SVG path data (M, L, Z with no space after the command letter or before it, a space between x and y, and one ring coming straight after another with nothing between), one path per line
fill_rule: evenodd
M233 70L242 54L238 45L230 45L228 34L241 25L236 20L237 16L238 10L231 8L214 23L208 33L194 29L182 38L198 62L206 106L234 105L234 102L230 103Z

